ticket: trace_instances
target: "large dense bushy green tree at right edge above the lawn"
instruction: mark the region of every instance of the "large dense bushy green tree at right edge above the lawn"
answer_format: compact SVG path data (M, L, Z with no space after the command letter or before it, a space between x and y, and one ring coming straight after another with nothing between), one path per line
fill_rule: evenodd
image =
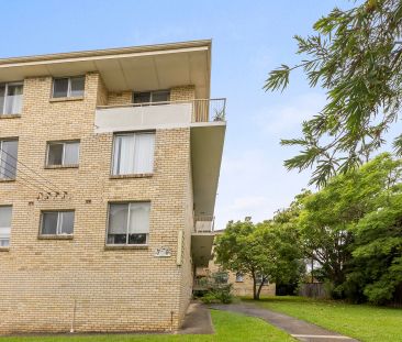
M401 167L382 154L303 198L303 251L333 295L381 304L402 282Z

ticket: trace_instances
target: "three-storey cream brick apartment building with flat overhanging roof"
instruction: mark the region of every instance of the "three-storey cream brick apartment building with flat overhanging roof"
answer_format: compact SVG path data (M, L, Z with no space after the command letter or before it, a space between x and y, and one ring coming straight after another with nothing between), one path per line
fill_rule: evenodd
M211 42L0 59L0 334L177 330L225 134Z

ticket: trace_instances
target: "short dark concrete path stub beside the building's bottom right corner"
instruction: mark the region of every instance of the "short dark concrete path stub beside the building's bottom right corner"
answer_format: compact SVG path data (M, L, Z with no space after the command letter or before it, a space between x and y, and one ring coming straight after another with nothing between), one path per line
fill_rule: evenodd
M212 334L215 333L212 326L210 310L200 302L191 302L181 329L180 334Z

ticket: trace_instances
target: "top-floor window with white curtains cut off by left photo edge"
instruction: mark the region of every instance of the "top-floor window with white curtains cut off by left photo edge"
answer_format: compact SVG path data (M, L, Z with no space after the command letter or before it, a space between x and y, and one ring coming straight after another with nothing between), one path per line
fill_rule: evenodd
M23 85L21 82L0 85L0 115L21 113L22 92Z

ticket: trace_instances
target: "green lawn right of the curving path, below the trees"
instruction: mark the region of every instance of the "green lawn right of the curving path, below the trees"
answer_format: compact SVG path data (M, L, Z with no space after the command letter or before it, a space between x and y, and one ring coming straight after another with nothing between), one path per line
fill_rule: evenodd
M348 305L301 297L269 297L253 302L360 341L402 341L402 309Z

